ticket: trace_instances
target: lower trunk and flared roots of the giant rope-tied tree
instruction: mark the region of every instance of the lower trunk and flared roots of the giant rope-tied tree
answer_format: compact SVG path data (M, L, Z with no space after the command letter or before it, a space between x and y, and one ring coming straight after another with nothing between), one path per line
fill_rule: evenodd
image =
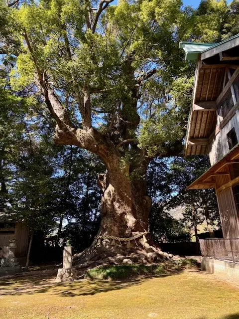
M125 169L115 166L99 175L99 185L103 190L100 230L92 246L76 255L76 263L89 260L120 263L124 259L147 263L167 258L146 233L151 200L146 195L145 181L142 178L132 181ZM109 235L116 238L107 238ZM127 242L117 239L135 235L139 237Z

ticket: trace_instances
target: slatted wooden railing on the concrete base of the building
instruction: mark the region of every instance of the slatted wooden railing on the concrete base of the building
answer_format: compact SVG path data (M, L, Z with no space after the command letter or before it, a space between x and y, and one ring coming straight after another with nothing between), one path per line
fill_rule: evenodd
M239 263L239 238L199 239L203 257Z

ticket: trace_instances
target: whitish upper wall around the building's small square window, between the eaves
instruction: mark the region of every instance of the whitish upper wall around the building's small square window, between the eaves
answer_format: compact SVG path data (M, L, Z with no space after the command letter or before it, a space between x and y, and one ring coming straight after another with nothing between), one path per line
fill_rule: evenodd
M235 128L235 132L239 141L239 110L228 121L228 123L219 131L208 146L209 158L211 165L215 164L224 155L229 152L227 134Z

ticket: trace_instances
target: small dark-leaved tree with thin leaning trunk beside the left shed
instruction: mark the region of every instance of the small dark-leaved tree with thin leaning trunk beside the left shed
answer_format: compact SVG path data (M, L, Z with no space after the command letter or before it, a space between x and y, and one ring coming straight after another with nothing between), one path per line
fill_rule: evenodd
M29 256L34 231L44 230L47 234L55 226L55 207L52 206L53 169L47 163L47 157L41 148L30 145L28 153L21 157L12 185L13 208L25 221L30 230L25 269L29 265Z

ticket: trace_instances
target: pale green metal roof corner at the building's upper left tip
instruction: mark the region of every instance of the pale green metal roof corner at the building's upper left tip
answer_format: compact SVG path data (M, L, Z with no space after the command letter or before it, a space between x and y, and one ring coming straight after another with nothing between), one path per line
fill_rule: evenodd
M185 60L197 60L199 53L211 49L218 43L179 42L180 49L186 52Z

